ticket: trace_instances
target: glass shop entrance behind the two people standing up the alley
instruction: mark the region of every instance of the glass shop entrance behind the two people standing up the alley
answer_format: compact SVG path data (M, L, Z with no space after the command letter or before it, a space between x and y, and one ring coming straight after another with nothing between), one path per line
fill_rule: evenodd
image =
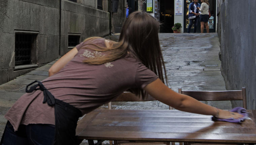
M187 33L188 32L188 24L189 24L189 19L188 19L188 7L189 7L189 4L193 2L192 0L184 0L184 3L185 3L185 8L184 8L184 13L186 15L184 15L184 33ZM201 4L201 0L198 0L198 3ZM210 13L211 13L211 17L209 19L209 22L208 22L208 25L209 25L209 30L210 30L210 33L215 33L216 32L216 0L209 0L209 10L210 10ZM194 32L194 25L191 27L191 30L190 30L190 33L193 33ZM200 22L196 28L196 33L201 33L201 30L200 30ZM204 33L206 33L206 29L204 28Z

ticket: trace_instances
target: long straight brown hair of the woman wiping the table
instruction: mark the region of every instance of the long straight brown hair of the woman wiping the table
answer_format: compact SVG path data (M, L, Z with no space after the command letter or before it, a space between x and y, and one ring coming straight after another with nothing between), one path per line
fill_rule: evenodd
M118 43L110 41L108 48L98 46L98 51L110 51L110 55L102 58L86 59L84 62L89 64L103 64L120 59L129 52L158 75L163 82L165 80L167 84L167 76L158 39L158 30L159 22L153 16L146 12L133 12L124 22ZM148 96L148 94L140 88L131 88L129 90L141 96L142 99Z

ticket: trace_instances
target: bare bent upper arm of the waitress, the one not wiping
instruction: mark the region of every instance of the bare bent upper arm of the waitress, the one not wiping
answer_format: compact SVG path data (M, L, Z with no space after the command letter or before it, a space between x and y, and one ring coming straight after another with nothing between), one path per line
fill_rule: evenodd
M77 53L76 47L68 51L64 56L62 56L53 66L49 69L49 76L54 75L59 72L70 60L74 58Z

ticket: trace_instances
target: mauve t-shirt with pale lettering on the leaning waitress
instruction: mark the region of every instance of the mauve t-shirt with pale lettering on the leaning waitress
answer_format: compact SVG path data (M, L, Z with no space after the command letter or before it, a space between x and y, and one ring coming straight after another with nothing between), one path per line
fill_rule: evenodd
M87 45L86 45L87 44ZM78 53L58 73L42 81L56 99L86 114L115 99L128 88L143 88L158 76L132 55L101 65L83 63L84 59L107 55L104 51L81 48L105 47L104 38L84 41ZM18 130L20 124L55 124L54 107L43 102L43 92L24 94L6 113L5 118Z

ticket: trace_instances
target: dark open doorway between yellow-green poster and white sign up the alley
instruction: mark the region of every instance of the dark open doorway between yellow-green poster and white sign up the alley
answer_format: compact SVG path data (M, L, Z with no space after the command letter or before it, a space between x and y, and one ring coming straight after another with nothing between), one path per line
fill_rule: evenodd
M160 0L160 33L173 33L174 0Z

